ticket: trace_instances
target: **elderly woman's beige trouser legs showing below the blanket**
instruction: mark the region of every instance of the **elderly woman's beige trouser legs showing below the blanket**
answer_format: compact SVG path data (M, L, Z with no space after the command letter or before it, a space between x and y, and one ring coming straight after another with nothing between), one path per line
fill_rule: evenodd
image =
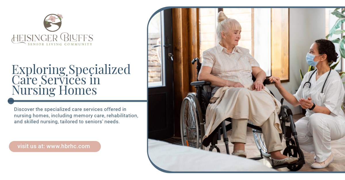
M247 123L248 119L232 119L233 133L231 135L231 143L243 142L246 144L247 138ZM274 113L266 120L266 122L260 126L265 139L265 145L267 152L273 152L277 150L283 150L282 142L279 138L277 128L274 126Z

